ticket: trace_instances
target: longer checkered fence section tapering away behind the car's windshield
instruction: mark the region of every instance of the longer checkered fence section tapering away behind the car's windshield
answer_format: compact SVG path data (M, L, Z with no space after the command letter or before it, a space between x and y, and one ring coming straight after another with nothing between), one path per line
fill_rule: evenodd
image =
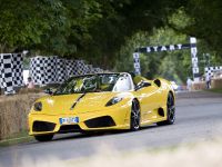
M71 76L103 72L83 60L61 59L59 57L31 58L30 76L34 85L61 84Z

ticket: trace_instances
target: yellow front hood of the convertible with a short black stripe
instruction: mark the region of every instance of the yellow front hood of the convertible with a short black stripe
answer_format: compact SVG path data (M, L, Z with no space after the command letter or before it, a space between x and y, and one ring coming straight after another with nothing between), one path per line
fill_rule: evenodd
M102 110L107 108L105 104L115 96L118 96L117 92L88 92L85 95L74 94L48 96L39 99L38 101L42 102L41 114L80 114Z

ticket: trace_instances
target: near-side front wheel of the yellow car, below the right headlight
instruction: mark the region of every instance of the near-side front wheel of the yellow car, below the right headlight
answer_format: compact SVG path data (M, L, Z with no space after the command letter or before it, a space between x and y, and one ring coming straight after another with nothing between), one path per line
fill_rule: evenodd
M130 115L130 130L135 131L139 129L140 129L140 105L137 100L133 100Z

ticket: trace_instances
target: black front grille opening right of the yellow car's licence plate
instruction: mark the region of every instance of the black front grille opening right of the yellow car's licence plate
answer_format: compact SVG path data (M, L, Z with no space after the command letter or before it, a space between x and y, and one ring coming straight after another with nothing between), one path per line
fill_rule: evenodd
M88 128L102 128L115 126L114 120L110 116L103 116L85 120L84 124Z

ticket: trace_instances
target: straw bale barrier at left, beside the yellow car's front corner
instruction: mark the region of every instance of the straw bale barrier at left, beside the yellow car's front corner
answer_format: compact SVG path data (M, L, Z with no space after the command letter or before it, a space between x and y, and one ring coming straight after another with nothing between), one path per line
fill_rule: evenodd
M27 116L32 104L42 94L0 97L0 139L27 130Z

